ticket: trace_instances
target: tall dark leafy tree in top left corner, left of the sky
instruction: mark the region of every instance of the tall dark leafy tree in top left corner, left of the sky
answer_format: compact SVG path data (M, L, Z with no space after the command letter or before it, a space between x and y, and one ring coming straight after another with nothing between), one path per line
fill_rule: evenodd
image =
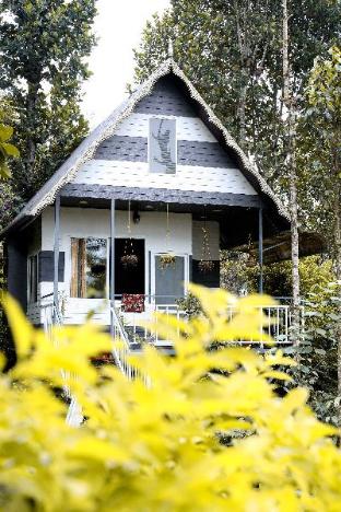
M95 0L2 0L0 88L16 108L13 186L26 200L80 142Z

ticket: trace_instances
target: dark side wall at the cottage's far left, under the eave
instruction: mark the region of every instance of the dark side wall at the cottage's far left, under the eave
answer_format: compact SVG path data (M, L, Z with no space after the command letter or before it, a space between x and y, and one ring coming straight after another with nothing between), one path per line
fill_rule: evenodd
M24 244L9 240L7 244L8 291L27 310L27 249Z

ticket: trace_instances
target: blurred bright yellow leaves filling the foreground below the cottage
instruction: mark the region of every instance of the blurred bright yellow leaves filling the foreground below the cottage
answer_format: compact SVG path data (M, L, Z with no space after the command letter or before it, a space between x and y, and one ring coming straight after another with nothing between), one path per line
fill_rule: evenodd
M234 298L192 291L201 317L158 318L176 357L146 347L134 358L148 387L91 365L111 342L94 326L58 328L52 346L4 301L19 363L0 379L2 510L339 510L338 431L315 418L304 388L275 394L273 382L287 379L279 366L292 360L212 349L212 340L257 336L264 298L235 302L228 323ZM54 393L60 368L78 374L70 385L87 418L79 429Z

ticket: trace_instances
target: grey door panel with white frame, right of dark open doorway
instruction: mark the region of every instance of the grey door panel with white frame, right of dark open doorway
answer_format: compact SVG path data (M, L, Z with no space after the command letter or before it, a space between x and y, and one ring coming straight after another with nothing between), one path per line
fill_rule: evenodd
M162 255L154 255L153 294L156 304L175 304L183 299L188 283L188 256L176 255L169 265L163 265Z

